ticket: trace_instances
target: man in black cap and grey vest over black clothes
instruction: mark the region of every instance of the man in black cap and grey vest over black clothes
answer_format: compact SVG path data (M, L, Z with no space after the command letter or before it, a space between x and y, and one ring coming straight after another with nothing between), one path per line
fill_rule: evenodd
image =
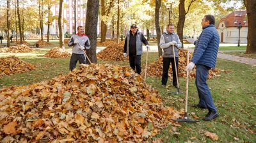
M149 48L148 41L145 36L138 31L135 24L132 24L129 33L127 33L124 43L124 57L129 56L129 63L132 70L136 70L136 73L141 73L141 55L142 55L142 43Z

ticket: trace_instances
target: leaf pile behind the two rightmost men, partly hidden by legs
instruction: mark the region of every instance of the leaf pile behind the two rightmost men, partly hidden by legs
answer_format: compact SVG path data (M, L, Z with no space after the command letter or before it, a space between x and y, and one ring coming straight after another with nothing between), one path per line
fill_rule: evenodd
M185 71L185 68L187 66L187 52L188 50L180 49L179 50L179 66L178 66L178 74L179 77L187 77L187 73ZM191 61L192 55L189 54L189 61ZM209 70L208 79L212 79L214 77L218 77L221 70L218 68ZM161 77L163 74L163 57L159 57L157 61L154 61L153 63L149 64L147 67L147 74L149 76L157 76ZM170 64L168 76L172 77L172 64ZM196 76L196 68L193 69L193 71L189 72L190 78L195 78Z

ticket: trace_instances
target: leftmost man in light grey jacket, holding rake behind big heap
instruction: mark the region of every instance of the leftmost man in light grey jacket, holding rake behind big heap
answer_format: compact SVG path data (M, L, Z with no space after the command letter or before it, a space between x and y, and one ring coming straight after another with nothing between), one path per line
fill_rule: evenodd
M77 34L74 34L70 41L68 41L68 46L72 48L72 56L70 58L69 70L72 71L76 68L76 63L79 61L80 64L86 64L86 57L84 55L84 49L90 49L90 41L88 36L84 34L83 26L77 27Z

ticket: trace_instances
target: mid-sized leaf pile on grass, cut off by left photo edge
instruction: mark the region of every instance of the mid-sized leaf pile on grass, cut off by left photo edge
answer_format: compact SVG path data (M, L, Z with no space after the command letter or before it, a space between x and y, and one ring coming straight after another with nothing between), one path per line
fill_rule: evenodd
M4 75L13 75L14 73L24 73L30 70L35 70L35 66L26 63L15 56L0 57L0 67L0 78Z

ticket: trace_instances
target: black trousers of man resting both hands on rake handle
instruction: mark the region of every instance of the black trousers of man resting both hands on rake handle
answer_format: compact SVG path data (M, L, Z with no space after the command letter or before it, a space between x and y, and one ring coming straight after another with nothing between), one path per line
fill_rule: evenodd
M177 67L177 73L178 73L178 63L179 63L179 57L175 57L176 60L176 67ZM170 67L170 63L172 63L172 84L173 86L177 86L177 78L176 78L176 72L175 72L175 64L174 64L174 58L173 57L164 57L163 58L163 75L162 75L162 85L167 84L168 80L168 71ZM179 73L178 73L179 75Z

